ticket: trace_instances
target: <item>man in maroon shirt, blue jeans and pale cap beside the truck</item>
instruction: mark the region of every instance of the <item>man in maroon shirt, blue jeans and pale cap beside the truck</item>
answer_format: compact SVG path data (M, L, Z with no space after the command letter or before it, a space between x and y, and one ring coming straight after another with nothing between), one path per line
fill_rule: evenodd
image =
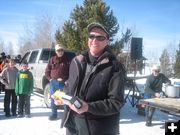
M64 88L64 82L68 79L70 59L64 54L62 45L55 45L56 55L51 57L45 70L46 78L50 84L50 95L53 95L56 90ZM51 98L52 114L49 120L57 119L57 106Z

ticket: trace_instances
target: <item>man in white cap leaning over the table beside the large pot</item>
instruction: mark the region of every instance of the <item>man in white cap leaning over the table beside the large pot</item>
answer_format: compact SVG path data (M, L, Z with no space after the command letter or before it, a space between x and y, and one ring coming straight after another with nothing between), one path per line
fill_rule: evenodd
M159 66L154 65L152 67L152 74L146 80L144 98L162 97L164 95L162 91L163 83L171 84L171 81L163 73L160 73ZM155 108L153 107L146 108L146 126L151 126L154 111Z

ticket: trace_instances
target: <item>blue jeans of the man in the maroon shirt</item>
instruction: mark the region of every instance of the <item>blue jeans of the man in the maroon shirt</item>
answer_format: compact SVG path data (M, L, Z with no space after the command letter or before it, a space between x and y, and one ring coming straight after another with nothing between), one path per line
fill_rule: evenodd
M64 81L51 80L50 81L50 95L53 95L54 92L58 89L63 90ZM54 104L54 100L51 98L51 111L53 116L57 116L57 106Z

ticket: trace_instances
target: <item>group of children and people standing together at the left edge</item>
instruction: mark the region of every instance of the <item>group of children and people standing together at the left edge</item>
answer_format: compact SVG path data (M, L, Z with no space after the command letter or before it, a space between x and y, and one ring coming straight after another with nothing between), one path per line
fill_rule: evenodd
M6 117L30 117L30 96L33 91L33 75L28 63L23 62L18 69L19 60L1 53L1 91L5 92L4 112ZM17 113L18 105L18 113ZM24 112L25 111L25 112Z

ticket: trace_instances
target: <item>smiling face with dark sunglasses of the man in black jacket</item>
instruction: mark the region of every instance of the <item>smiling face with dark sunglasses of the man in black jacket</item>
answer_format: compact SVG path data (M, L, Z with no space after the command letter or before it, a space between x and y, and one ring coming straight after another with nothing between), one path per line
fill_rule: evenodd
M106 33L100 28L93 28L89 33L88 47L92 56L99 56L108 45Z

